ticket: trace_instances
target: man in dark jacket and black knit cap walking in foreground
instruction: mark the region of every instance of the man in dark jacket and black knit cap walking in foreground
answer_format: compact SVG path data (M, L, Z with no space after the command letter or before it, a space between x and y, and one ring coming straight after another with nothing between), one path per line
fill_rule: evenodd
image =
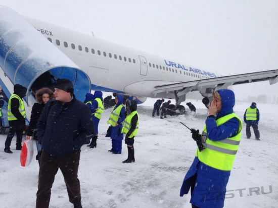
M42 154L36 208L49 207L51 187L60 168L75 208L81 208L80 182L77 177L80 148L95 135L90 109L73 94L68 79L54 84L55 98L45 105L37 123Z

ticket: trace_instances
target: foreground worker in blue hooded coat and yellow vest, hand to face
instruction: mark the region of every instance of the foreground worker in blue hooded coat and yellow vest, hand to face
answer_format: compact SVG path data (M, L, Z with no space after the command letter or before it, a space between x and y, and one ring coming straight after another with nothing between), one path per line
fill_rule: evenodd
M197 149L180 188L180 196L191 188L190 203L195 208L224 206L226 185L241 140L242 121L233 111L234 92L220 89L213 92L213 98L202 135L192 130L192 138L204 149Z

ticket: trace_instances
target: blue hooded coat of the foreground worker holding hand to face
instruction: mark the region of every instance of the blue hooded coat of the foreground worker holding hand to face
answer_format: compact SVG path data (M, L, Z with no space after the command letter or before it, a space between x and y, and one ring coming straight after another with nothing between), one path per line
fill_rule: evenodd
M222 108L216 115L219 119L228 114L234 113L235 94L228 89L217 90L221 96ZM238 119L231 119L223 125L216 126L214 116L209 116L206 120L208 137L213 141L233 137L240 125ZM180 189L180 196L187 194L194 187L190 202L200 208L218 208L224 206L226 185L228 183L230 171L221 171L200 162L195 157L193 164L183 179ZM195 177L196 180L195 180Z

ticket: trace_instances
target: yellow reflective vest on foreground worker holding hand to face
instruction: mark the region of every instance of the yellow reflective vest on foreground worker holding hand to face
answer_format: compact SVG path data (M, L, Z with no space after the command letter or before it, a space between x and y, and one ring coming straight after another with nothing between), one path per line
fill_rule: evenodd
M222 171L231 170L241 140L242 121L235 113L226 115L216 120L216 125L218 127L232 118L237 118L240 122L240 127L236 136L228 137L220 141L212 141L207 138L206 143L203 143L205 149L203 151L199 151L198 148L196 151L196 157L198 157L202 163ZM203 131L207 132L206 126Z

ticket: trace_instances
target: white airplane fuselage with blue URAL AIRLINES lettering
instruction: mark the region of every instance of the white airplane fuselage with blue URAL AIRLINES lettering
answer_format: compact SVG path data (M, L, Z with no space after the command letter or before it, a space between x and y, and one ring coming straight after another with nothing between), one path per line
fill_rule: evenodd
M94 36L24 18L89 76L92 90L100 86L103 91L144 97L174 98L173 93L153 94L154 87L219 77L207 71Z

